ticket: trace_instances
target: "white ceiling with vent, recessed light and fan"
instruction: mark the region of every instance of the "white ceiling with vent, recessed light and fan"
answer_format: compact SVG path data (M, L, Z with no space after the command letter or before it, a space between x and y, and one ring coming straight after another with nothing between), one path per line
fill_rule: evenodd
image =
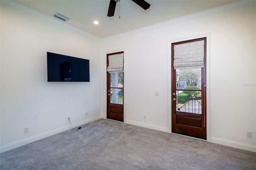
M151 6L144 10L131 0L121 0L119 19L118 5L114 16L107 16L110 0L15 0L50 17L59 12L71 18L66 24L99 38L122 34L235 1L237 0L146 0ZM93 24L94 20L100 24Z

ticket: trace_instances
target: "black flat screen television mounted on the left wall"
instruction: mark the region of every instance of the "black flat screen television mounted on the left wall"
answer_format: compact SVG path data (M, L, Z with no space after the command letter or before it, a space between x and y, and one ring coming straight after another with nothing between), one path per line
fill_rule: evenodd
M47 52L48 82L89 82L89 60Z

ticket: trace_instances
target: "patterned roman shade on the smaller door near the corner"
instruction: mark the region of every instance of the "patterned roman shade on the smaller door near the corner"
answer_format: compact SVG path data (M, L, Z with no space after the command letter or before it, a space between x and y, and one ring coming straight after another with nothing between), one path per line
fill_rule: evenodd
M124 72L124 53L108 56L108 73Z

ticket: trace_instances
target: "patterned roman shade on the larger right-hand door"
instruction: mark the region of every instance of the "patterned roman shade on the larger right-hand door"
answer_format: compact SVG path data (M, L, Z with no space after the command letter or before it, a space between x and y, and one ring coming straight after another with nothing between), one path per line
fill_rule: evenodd
M204 67L204 40L174 45L174 69Z

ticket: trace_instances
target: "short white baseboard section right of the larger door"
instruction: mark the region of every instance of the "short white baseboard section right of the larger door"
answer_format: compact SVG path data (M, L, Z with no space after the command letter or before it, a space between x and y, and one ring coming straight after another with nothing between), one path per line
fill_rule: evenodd
M226 139L215 138L215 137L212 137L212 143L223 144L223 145L231 146L234 148L256 152L256 145L252 145L252 144L245 144L245 143L240 143L232 140L226 140Z

